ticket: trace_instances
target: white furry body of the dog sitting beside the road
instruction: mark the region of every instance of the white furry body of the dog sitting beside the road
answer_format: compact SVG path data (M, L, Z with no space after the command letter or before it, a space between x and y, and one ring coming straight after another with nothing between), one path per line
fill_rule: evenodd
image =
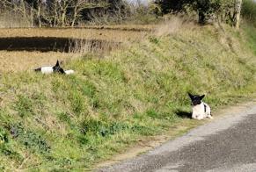
M204 111L204 105L206 105L206 111ZM201 104L193 106L192 118L201 120L203 118L213 118L210 114L210 107L208 104L201 102Z

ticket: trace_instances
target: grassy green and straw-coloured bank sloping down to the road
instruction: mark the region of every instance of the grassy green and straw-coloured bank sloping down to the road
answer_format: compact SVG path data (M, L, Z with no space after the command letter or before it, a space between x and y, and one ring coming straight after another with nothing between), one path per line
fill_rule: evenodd
M152 34L105 59L69 61L76 75L1 75L0 168L90 168L189 120L187 91L213 109L251 97L256 59L246 34L225 30Z

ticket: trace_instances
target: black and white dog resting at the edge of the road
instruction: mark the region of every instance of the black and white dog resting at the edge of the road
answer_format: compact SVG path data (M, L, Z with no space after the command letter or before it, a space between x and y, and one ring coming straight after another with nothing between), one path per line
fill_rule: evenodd
M202 98L205 95L192 95L188 93L192 103L192 118L201 120L203 118L213 118L210 112L210 107L208 104L202 102Z

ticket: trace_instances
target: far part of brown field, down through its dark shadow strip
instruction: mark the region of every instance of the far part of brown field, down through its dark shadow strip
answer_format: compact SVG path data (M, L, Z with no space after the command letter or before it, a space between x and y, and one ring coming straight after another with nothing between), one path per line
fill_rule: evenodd
M123 42L143 39L152 25L87 26L79 28L0 29L0 50L41 52L109 52Z

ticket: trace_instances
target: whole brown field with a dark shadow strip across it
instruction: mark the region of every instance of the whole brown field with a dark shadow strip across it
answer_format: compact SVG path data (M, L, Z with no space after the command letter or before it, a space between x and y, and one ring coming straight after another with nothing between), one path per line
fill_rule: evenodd
M0 73L32 71L86 53L105 54L123 42L143 39L153 26L0 29Z

